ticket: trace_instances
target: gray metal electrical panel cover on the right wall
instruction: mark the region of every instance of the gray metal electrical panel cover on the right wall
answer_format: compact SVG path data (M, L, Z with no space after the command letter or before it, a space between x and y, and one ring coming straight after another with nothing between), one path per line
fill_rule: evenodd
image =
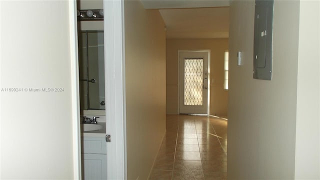
M253 78L272 77L273 0L255 0Z

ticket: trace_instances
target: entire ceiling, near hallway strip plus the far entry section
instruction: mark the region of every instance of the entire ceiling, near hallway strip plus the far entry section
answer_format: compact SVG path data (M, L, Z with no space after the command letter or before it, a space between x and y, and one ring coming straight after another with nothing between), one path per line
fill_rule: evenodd
M159 9L165 23L166 38L228 37L229 0L141 0L141 2L144 8Z

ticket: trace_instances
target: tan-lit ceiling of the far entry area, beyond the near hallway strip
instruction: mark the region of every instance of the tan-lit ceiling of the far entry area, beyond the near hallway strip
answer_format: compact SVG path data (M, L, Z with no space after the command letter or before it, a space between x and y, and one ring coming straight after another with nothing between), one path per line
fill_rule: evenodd
M229 7L159 10L166 38L227 38Z

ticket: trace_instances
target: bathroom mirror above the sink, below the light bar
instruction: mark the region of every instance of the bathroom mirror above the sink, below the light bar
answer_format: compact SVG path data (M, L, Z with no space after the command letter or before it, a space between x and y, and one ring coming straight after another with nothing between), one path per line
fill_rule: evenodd
M104 110L103 30L78 33L80 110Z

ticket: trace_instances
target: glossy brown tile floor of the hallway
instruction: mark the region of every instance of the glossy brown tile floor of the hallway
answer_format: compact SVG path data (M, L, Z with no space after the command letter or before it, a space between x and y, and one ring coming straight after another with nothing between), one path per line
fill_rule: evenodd
M149 179L226 179L227 121L166 115L166 134Z

